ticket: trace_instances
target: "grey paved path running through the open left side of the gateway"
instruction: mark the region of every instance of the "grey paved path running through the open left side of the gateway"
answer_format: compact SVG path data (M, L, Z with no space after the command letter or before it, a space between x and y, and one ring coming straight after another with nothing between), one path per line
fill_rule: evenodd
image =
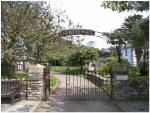
M63 73L53 72L53 75L60 81L56 93L50 96L49 101L43 102L39 112L119 112L121 111L108 99L100 100L66 100L65 85L66 79ZM73 79L73 78L71 78ZM83 79L83 78L81 78ZM81 80L84 83L84 79ZM85 84L87 84L85 80ZM81 83L81 84L82 84ZM77 85L77 83L74 83ZM92 84L91 84L92 85ZM82 86L82 85L81 85Z

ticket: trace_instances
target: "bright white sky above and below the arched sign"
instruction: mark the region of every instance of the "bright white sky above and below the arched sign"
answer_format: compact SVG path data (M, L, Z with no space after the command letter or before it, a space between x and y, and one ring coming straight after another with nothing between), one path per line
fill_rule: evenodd
M98 32L112 32L119 28L129 15L137 14L137 12L118 13L104 9L101 7L102 1L100 0L50 0L50 4L53 9L65 10L74 24L80 24L83 29ZM89 41L94 41L95 47L99 49L111 46L105 39L99 37L81 36L81 38L84 38L82 44L87 45Z

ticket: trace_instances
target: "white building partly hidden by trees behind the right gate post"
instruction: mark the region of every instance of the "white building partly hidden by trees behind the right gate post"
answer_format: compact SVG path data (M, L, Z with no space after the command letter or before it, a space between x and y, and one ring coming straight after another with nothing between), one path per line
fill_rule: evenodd
M131 48L130 44L128 44L125 48L121 49L121 54L122 57L130 62L132 65L137 65L135 51L133 48Z

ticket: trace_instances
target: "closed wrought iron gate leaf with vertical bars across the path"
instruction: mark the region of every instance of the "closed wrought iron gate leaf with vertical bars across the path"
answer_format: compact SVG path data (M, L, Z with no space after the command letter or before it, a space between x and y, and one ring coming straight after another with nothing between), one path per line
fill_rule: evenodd
M66 69L66 99L111 99L111 80L102 79L94 71L76 75Z

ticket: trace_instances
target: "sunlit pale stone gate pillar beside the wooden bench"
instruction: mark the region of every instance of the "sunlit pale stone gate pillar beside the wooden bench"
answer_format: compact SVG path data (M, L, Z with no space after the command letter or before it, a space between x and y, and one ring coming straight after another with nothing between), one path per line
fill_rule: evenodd
M27 100L42 100L43 99L43 70L45 66L30 65L28 68L28 80L24 80L22 96Z

